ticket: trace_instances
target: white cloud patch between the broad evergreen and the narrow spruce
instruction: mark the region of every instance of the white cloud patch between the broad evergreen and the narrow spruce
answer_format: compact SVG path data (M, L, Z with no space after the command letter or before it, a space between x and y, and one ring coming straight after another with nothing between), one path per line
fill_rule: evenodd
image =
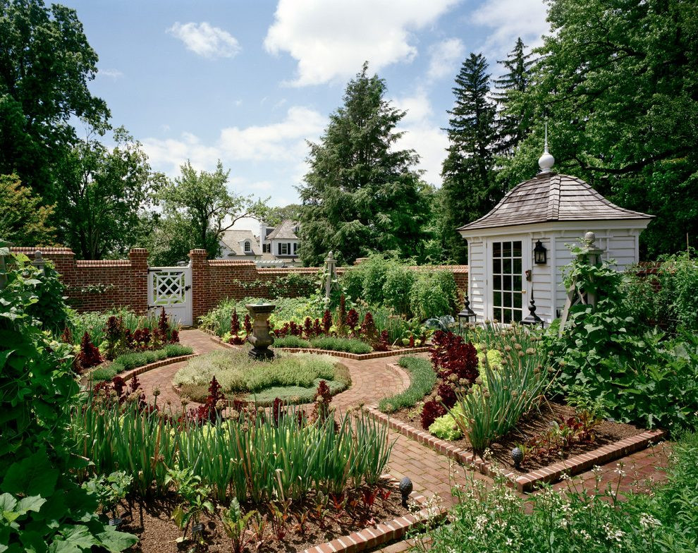
M396 142L396 149L412 149L420 154L417 169L424 171L422 178L434 186L441 186L441 164L446 158L448 135L432 120L433 110L427 91L419 89L415 95L393 99L393 104L408 111L398 127L405 134Z

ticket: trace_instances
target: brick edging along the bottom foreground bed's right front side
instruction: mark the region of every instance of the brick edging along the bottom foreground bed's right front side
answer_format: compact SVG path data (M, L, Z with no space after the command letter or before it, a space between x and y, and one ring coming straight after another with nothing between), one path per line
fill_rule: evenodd
M390 478L391 484L395 487L398 481ZM398 516L392 521L378 523L374 526L357 530L348 535L336 537L329 542L313 545L305 549L303 553L356 553L365 549L374 549L379 545L384 545L388 542L400 540L405 537L408 530L414 528L418 524L428 518L442 518L446 514L446 509L439 508L438 511L429 511L427 498L423 495L412 492L410 499L414 500L422 506L422 509L416 513L408 513L405 516Z

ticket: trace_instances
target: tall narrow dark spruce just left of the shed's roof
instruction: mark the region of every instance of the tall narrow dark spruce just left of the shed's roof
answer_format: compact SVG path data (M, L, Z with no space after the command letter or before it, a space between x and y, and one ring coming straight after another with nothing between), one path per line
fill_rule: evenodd
M470 54L455 78L446 129L451 145L441 171L443 243L459 263L467 261L467 245L455 229L482 217L502 195L493 170L496 109L489 90L486 59Z

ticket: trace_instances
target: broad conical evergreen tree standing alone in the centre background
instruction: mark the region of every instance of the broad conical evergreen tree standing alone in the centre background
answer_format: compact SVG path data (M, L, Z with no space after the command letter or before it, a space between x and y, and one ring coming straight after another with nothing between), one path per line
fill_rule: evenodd
M364 63L320 142L310 143L310 171L298 187L305 265L322 263L330 250L345 263L372 252L412 257L422 243L429 205L413 169L419 158L393 147L405 112L384 99L384 80L367 71Z

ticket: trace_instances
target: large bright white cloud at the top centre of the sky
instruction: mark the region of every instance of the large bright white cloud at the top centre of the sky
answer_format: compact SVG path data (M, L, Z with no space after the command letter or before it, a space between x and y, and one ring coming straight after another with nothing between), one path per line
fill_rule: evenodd
M372 71L410 62L410 32L431 25L459 0L279 0L264 46L298 61L292 85L350 77L368 60Z

